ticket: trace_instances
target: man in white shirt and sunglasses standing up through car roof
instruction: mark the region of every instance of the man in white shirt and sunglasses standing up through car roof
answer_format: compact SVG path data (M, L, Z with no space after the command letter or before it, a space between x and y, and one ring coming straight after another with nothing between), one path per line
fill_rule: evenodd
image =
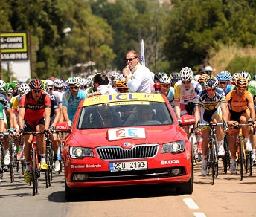
M153 92L153 80L150 70L138 62L136 51L128 51L125 61L127 66L123 69L129 92Z

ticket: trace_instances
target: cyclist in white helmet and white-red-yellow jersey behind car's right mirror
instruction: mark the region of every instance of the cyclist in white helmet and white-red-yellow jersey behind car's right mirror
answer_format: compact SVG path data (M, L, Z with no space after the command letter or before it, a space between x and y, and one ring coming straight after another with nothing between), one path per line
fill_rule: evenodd
M179 78L180 81L174 85L174 110L178 119L182 115L193 114L196 96L202 90L199 82L193 80L193 71L191 68L182 68ZM188 133L189 126L183 128Z

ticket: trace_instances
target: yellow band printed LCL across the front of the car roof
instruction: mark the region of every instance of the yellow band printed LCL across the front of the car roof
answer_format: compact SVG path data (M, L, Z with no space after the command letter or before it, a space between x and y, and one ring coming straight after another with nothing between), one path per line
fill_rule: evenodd
M147 94L147 93L121 93L121 94L105 94L99 97L87 98L83 101L84 106L92 106L102 103L118 103L118 102L130 102L130 101L148 101L165 103L161 94Z

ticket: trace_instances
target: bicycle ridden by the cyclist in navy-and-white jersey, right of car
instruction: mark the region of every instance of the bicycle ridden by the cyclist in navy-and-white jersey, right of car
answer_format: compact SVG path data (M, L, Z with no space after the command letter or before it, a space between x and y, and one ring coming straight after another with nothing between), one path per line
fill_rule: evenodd
M207 167L211 169L212 184L214 184L214 178L218 176L218 159L217 159L217 139L215 126L224 126L224 123L199 123L199 126L209 126L210 135L208 140L208 158Z

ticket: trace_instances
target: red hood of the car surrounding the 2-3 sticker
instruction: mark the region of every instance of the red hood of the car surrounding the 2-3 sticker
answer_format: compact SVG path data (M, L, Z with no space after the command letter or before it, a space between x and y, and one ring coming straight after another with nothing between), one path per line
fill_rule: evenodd
M109 139L111 129L90 129L77 130L72 133L68 144L71 146L86 146L96 148L99 146L123 146L124 143L144 144L144 143L170 143L176 140L188 140L185 133L179 126L145 126L138 127L144 129L145 138L124 137L115 140ZM121 128L127 129L127 128ZM116 130L116 129L115 129Z

